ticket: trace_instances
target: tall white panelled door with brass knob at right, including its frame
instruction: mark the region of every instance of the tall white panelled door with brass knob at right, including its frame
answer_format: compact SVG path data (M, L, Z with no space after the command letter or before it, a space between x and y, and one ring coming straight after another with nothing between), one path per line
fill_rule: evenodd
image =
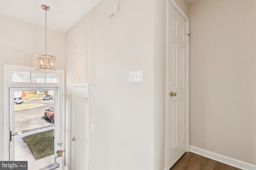
M189 150L189 23L173 0L168 1L167 8L166 164L167 169L170 169ZM171 95L171 92L176 93L176 96Z

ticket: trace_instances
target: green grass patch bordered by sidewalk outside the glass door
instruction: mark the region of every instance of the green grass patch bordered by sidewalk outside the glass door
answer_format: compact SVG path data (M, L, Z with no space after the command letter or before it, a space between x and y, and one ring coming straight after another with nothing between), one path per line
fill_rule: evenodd
M50 156L53 152L54 129L23 137L36 160Z

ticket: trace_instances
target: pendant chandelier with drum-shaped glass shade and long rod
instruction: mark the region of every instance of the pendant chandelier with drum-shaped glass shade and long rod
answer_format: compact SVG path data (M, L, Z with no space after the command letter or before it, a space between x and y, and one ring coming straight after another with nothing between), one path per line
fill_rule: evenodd
M56 70L56 57L46 54L46 11L50 10L47 5L42 5L45 10L45 54L35 56L35 67L36 70L41 71L54 71Z

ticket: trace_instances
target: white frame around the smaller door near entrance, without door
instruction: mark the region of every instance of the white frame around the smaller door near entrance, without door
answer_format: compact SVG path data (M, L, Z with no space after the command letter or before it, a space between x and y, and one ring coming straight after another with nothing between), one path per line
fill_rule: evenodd
M85 135L85 139L86 141L84 141L84 145L86 145L86 159L85 159L85 162L84 162L84 168L85 170L88 170L89 169L89 100L90 100L90 97L89 97L89 84L88 83L81 83L81 84L72 84L72 137L74 137L74 88L76 87L87 87L88 91L87 91L87 96L86 96L86 101L88 100L88 103L86 104L86 110L85 110L85 126L87 127L86 129L84 129L84 135ZM72 151L71 151L71 168L73 169L73 158L74 158L74 143L72 143Z

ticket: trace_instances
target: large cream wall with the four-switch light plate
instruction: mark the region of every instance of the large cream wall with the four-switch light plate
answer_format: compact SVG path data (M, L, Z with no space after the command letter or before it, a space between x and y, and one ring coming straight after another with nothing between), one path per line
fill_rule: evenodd
M119 12L109 18L114 2ZM72 83L90 84L91 170L153 169L153 19L151 0L102 1L66 33L66 135ZM143 83L129 71L143 70ZM71 169L71 143L66 166Z

